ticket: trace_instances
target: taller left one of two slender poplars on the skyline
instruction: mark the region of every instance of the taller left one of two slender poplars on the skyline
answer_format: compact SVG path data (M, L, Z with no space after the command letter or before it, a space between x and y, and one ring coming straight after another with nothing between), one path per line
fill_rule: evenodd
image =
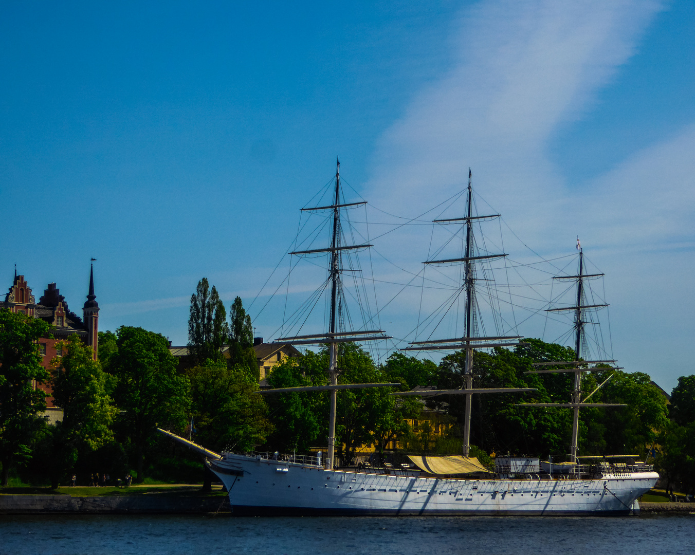
M207 278L198 282L195 295L190 297L188 317L188 351L197 363L208 358L219 361L222 345L229 336L227 311L215 286L210 290Z

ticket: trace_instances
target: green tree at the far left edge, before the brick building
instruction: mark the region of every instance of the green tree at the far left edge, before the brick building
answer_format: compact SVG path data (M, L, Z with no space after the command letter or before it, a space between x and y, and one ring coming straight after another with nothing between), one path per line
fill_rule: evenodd
M47 381L38 339L49 325L38 318L0 309L0 463L6 486L10 468L30 456L32 430L37 415L46 408L46 394L34 383Z

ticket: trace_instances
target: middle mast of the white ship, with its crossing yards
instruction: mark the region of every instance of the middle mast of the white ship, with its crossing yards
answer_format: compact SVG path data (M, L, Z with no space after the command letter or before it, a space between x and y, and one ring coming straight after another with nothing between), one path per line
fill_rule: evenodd
M473 395L477 393L512 393L536 391L533 388L481 388L473 389L473 351L474 349L489 349L490 347L507 347L511 345L523 345L518 340L521 336L494 336L494 337L475 337L474 313L475 313L475 261L489 258L502 258L506 254L486 254L474 256L473 222L478 219L489 219L499 217L499 214L486 216L473 215L473 172L468 168L468 191L466 215L459 218L435 219L436 224L461 224L466 226L466 247L463 258L447 258L445 260L427 260L423 264L443 264L443 263L464 263L464 283L466 291L466 336L463 338L440 339L429 341L411 342L410 347L402 349L404 351L423 351L440 349L465 349L466 362L464 366L464 386L457 390L430 390L430 391L406 391L392 393L391 395L418 395L418 396L437 396L437 395L465 395L466 408L464 412L464 438L463 456L468 457L471 451L471 408L473 406ZM503 340L503 342L498 342ZM496 342L490 342L496 341ZM510 342L511 341L511 342Z

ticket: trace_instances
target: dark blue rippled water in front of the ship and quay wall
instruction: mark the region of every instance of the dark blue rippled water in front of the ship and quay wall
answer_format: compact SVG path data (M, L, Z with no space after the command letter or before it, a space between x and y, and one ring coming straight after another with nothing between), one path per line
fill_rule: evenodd
M688 554L695 515L0 516L0 554Z

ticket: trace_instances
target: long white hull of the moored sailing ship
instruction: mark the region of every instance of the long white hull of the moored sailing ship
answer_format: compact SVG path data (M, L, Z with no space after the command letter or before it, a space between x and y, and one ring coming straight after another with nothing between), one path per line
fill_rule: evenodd
M211 461L211 470L238 515L629 515L659 478L626 472L600 479L442 479L235 454Z

